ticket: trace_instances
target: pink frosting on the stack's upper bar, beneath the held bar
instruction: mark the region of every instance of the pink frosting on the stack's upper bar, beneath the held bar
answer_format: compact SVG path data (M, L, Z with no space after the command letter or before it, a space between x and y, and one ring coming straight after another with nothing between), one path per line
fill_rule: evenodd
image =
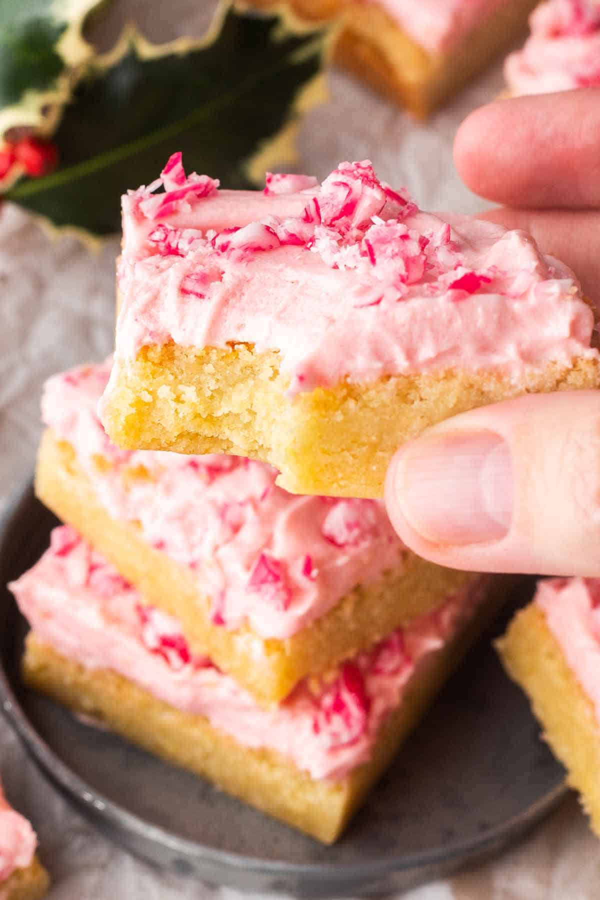
M290 494L271 466L235 456L119 450L96 414L109 371L110 360L50 378L42 418L112 518L139 522L148 544L193 568L216 625L287 637L402 567L406 547L380 500ZM152 480L126 478L139 465Z

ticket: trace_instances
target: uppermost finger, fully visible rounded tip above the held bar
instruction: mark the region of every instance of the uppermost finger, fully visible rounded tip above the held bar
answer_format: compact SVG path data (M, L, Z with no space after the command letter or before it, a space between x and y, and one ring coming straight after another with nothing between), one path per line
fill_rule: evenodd
M454 141L470 189L506 206L600 207L600 87L496 101Z

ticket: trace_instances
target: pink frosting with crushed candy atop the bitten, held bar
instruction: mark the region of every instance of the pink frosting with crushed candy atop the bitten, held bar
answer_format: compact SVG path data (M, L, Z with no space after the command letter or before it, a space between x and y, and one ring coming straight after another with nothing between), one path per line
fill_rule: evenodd
M195 191L199 178L181 168L184 187L163 174L165 193L155 183L123 197L116 365L101 412L121 367L168 341L276 349L291 396L453 366L517 380L597 356L574 275L533 238L420 211L368 161L300 192L291 175L291 193L284 179L277 193L204 181Z

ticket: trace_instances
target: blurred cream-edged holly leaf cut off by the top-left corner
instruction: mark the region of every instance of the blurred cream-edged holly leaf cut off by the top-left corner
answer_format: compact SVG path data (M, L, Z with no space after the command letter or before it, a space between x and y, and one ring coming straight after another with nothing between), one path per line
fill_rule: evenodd
M0 137L13 128L48 133L73 73L94 53L85 18L103 0L0 0Z

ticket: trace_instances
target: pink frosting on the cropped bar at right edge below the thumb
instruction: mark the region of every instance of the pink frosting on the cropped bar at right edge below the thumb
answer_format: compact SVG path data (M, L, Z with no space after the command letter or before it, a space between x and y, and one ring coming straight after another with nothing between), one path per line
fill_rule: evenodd
M540 581L535 603L591 700L600 725L600 579Z

